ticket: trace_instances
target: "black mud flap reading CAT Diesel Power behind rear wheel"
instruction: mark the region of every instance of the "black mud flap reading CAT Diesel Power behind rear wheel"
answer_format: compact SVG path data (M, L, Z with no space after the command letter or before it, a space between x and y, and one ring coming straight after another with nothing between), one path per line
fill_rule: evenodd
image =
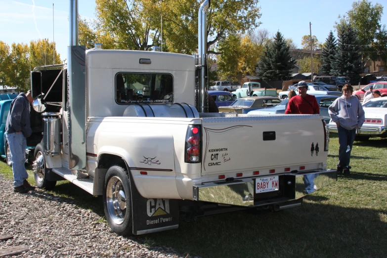
M134 191L132 189L131 194L133 235L178 228L178 200L147 199L142 197L136 189Z

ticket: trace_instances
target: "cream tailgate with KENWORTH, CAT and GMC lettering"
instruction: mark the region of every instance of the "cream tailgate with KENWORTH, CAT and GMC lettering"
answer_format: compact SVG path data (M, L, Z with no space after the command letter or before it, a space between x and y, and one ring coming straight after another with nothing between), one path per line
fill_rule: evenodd
M219 174L227 178L242 173L246 177L257 171L265 175L284 173L286 168L299 171L300 166L305 171L326 167L324 127L319 115L201 116L203 181L216 180Z

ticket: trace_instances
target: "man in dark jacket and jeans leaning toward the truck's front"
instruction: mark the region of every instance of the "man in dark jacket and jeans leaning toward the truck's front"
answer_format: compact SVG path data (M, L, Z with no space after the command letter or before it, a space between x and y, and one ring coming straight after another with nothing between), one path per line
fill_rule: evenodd
M24 167L26 163L26 138L32 133L30 104L33 101L31 90L27 91L27 94L20 93L11 102L5 124L5 136L11 151L13 189L19 193L27 193L29 190L35 189L28 183L28 174Z

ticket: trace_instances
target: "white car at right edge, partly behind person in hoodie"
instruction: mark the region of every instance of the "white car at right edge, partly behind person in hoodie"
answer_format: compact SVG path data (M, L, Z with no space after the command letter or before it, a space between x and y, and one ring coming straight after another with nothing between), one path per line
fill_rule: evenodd
M357 130L358 140L368 140L369 137L387 138L387 97L373 98L363 104L365 121ZM336 123L329 123L328 130L337 132Z

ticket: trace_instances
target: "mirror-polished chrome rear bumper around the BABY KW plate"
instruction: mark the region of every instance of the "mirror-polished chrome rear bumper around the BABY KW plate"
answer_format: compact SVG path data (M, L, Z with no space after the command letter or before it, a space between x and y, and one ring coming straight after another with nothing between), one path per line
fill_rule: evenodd
M194 185L193 199L195 201L243 207L280 204L280 209L281 207L286 209L285 207L292 206L295 200L337 181L336 170L316 170L302 174L288 173L279 176L280 187L278 191L264 194L255 193L256 178L245 178L230 182L210 182ZM299 204L301 205L301 202L296 202L296 206L299 206Z

